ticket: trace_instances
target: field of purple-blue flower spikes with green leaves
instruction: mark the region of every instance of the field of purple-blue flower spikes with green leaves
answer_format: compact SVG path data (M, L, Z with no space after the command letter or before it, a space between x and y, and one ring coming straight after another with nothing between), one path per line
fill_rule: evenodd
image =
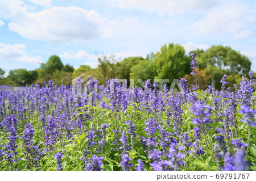
M144 83L0 91L0 170L256 170L251 73L235 91Z

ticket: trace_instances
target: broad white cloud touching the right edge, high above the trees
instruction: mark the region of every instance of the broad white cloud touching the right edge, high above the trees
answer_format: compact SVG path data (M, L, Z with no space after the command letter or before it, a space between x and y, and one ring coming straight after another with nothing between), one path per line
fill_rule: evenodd
M234 33L255 22L254 10L232 1L210 9L205 18L194 23L192 28L198 33Z

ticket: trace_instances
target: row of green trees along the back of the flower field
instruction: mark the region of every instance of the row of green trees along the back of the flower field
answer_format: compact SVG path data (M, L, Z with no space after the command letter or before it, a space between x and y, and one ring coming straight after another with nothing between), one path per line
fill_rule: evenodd
M200 89L206 89L212 82L216 81L217 89L220 89L220 80L224 74L229 86L239 85L242 76L247 76L250 71L251 61L240 52L230 47L213 45L207 50L196 49L198 61L197 83ZM5 71L0 68L0 84L9 86L26 86L32 83L48 82L52 79L57 85L71 85L72 79L82 73L98 78L100 84L104 84L106 78L134 79L134 84L141 86L137 79L169 79L170 86L174 79L186 78L188 84L195 84L195 79L190 74L191 57L185 53L184 47L179 44L165 44L159 52L151 52L143 57L127 57L122 61L111 56L103 56L98 60L97 68L89 65L81 65L78 69L72 65L63 65L59 56L52 55L46 63L40 64L36 70L15 69L10 70L7 77L3 77ZM150 65L150 66L148 66ZM111 69L110 69L110 68Z

